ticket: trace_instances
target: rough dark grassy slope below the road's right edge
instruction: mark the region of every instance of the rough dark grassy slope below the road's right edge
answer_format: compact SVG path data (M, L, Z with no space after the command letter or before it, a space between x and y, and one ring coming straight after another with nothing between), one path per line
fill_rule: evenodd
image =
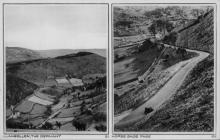
M141 125L124 131L213 131L213 68L213 56L200 62L160 110Z

